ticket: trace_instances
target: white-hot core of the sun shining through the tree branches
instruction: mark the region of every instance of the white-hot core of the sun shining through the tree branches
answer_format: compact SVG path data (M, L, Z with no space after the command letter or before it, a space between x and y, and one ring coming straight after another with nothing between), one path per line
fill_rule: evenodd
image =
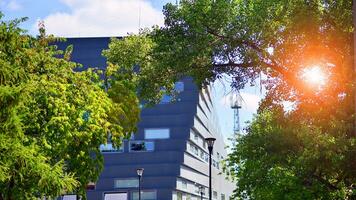
M327 81L325 72L319 66L305 68L302 71L302 78L307 84L313 86L323 86Z

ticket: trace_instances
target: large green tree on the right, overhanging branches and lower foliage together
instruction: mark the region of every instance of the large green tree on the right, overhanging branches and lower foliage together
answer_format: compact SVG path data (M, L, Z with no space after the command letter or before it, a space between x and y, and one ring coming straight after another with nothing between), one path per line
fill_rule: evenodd
M153 102L184 76L204 86L228 75L236 90L262 79L266 97L226 166L235 198L351 199L351 8L351 0L182 0L164 7L163 27L114 40L107 53L125 69L140 65L138 94ZM326 84L304 81L311 66Z

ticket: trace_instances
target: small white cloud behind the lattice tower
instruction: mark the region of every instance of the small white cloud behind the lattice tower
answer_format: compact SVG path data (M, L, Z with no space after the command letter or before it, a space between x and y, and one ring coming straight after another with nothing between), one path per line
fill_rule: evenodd
M240 92L240 96L241 99L239 97L236 97L236 94L229 93L228 95L225 95L221 98L220 104L225 107L230 107L231 103L234 102L236 98L238 98L241 103L240 105L242 106L242 109L251 112L256 112L261 97L259 95L247 92Z

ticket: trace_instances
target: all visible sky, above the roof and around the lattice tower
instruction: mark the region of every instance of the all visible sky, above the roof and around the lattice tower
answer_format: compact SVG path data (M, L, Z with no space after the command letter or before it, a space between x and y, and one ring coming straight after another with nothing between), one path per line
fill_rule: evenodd
M3 20L28 17L21 27L32 35L44 21L47 33L61 37L111 37L137 33L139 28L163 25L162 8L176 0L0 0ZM213 84L213 96L222 134L233 134L233 110L228 80ZM240 91L240 125L245 127L263 96L257 86Z

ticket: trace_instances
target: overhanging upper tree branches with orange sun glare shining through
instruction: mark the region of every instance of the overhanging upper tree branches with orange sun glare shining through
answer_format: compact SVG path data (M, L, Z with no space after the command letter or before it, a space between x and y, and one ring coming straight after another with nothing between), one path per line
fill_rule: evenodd
M127 69L140 66L139 94L148 99L182 76L204 85L225 74L233 78L233 89L262 76L269 87L286 88L284 99L296 96L288 91L309 97L300 73L312 65L330 75L323 94L337 96L350 90L353 74L351 3L180 1L164 7L163 27L114 40L106 55Z

